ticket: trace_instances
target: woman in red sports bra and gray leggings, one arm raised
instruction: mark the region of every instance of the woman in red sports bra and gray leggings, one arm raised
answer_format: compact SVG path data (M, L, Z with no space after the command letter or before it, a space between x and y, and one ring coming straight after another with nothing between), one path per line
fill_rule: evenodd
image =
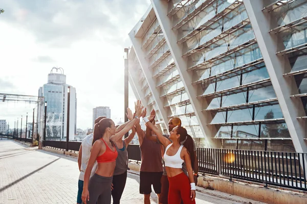
M110 137L113 135L123 137L139 122L141 115L142 105L138 103L136 117L118 133L115 133L115 124L109 118L103 118L95 124L91 156L84 173L82 203L111 203L111 185L118 153ZM95 160L97 160L98 168L90 179Z

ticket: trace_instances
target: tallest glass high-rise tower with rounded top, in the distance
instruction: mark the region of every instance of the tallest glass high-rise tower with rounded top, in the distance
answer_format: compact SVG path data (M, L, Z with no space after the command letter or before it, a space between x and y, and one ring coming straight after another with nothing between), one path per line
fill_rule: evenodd
M69 139L74 140L77 116L76 89L66 84L66 75L62 68L53 67L48 74L48 83L38 91L38 95L44 96L47 101L47 140L63 140L67 136L68 92L70 92ZM39 111L38 115L40 114L43 113Z

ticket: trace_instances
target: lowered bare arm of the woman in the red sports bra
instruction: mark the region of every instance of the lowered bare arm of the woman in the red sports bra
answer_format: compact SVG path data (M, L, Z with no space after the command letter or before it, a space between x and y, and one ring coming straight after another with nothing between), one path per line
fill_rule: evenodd
M90 193L89 193L89 180L90 180L90 175L91 175L91 171L93 169L94 163L96 161L96 158L101 151L104 151L106 149L105 145L102 144L102 142L100 140L97 140L91 150L91 156L89 159L89 163L87 163L87 167L84 173L84 183L83 183L83 191L82 191L82 201L86 204L86 201L90 200Z

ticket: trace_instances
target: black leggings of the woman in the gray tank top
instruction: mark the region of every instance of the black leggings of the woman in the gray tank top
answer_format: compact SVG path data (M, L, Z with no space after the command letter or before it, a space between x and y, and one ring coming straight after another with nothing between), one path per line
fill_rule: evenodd
M125 185L127 180L127 171L119 174L113 175L113 190L112 190L112 198L113 204L119 204L120 198L123 194Z

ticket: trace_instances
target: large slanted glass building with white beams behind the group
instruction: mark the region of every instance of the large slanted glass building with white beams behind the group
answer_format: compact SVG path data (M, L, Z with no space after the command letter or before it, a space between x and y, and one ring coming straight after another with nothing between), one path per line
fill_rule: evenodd
M162 130L177 116L199 147L307 152L307 1L152 0L129 38Z

